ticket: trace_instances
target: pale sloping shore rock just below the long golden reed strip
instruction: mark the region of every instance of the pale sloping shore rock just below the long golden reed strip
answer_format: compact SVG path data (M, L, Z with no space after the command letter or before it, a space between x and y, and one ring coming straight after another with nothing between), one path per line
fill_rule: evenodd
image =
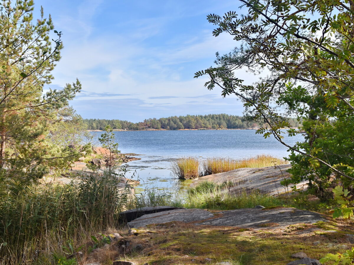
M202 181L212 181L215 183L230 181L234 183L234 186L225 189L225 193L238 194L244 190L259 190L261 193L270 195L282 194L287 192L287 190L280 184L280 181L290 176L286 171L290 169L290 167L291 165L281 165L279 167L246 167L235 169L228 172L195 178L191 186L193 187ZM298 189L306 188L307 183L305 181L301 182L297 184L296 187Z

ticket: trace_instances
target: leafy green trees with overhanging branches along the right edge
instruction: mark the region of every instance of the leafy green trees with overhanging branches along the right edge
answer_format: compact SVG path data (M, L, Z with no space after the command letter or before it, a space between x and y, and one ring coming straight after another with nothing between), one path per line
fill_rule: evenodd
M346 0L240 2L248 8L245 16L207 16L217 26L214 36L227 32L240 46L217 53L216 66L195 77L207 75L208 89L238 96L246 117L267 125L257 133L289 148L292 183L308 179L322 198L336 183L353 192L354 6ZM246 84L239 69L269 74ZM298 133L289 117L301 120L305 132L295 146L284 142L284 134Z

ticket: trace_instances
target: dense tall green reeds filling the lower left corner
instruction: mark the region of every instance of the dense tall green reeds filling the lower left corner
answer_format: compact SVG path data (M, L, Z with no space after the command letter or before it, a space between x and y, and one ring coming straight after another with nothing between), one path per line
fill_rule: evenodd
M0 264L51 264L67 242L119 225L129 188L111 174L0 194ZM1 185L1 183L0 183Z

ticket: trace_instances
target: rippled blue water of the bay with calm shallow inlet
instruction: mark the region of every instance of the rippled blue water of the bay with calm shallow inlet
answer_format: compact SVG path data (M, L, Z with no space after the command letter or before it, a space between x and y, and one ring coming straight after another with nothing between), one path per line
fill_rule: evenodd
M91 132L96 140L102 132ZM139 179L140 188L171 188L179 181L171 175L171 161L181 157L228 157L242 159L257 154L287 156L287 148L273 137L264 139L255 130L196 131L115 131L122 153L141 154L141 160L129 162L128 177ZM286 137L290 145L301 135Z

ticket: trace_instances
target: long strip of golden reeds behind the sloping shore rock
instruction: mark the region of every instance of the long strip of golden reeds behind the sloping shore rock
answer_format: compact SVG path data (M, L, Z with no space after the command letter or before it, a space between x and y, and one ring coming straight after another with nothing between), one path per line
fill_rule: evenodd
M202 163L202 175L211 175L227 172L243 167L266 167L286 164L284 159L272 157L271 155L257 155L244 160L230 158L208 158Z

